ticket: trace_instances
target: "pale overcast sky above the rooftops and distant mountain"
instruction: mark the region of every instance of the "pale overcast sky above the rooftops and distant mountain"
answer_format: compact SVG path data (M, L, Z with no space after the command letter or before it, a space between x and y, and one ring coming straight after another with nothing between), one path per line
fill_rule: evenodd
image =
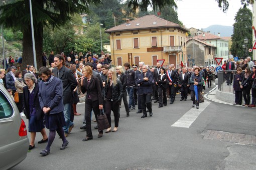
M202 29L211 25L232 26L239 8L240 0L229 0L229 8L223 13L215 0L181 0L177 1L179 20L186 28ZM252 10L251 5L248 6Z

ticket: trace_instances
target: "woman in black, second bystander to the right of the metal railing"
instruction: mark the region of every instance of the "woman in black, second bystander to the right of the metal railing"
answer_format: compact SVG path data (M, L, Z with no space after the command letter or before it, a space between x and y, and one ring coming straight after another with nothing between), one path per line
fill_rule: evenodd
M250 69L249 67L245 68L245 73L242 76L242 82L241 82L241 89L242 89L242 95L244 99L244 105L242 106L249 106L250 104L250 88L251 88L251 83L247 82L246 80L250 76Z

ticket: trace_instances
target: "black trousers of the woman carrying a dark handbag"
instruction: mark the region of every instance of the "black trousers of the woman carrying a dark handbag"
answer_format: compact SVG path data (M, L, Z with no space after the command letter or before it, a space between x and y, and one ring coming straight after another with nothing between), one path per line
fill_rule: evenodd
M119 106L119 105L118 105ZM96 121L98 121L98 114L99 114L99 101L91 101L88 99L88 102L85 102L85 122L86 122L86 137L92 137L91 132L91 111L93 109L94 115L96 117ZM99 133L102 133L100 131Z

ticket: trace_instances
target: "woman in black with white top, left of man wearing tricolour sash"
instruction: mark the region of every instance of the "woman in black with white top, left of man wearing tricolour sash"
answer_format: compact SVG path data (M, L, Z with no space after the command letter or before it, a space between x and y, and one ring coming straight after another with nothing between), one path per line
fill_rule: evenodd
M168 87L168 84L166 82L167 76L165 74L165 68L160 68L160 74L157 77L157 83L158 83L158 94L159 94L159 106L163 107L167 105L167 98L166 98L166 88ZM164 97L164 100L163 100Z

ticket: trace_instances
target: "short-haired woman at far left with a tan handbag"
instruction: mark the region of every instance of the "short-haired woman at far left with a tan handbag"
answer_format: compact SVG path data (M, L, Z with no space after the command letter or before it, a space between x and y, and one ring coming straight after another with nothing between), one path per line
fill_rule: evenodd
M22 72L16 71L15 72L16 80L14 81L16 91L19 93L19 102L16 103L19 112L21 113L21 116L25 116L24 113L22 113L22 106L23 106L23 88L26 86L26 84L22 80Z

